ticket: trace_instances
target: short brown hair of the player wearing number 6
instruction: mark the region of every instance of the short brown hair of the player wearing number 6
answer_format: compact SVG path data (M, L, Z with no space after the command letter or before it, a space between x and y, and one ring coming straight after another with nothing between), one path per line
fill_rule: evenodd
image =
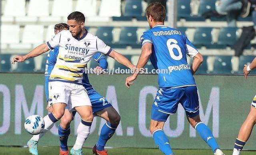
M146 8L147 17L152 16L155 22L164 22L166 17L166 11L164 6L159 3L150 3Z

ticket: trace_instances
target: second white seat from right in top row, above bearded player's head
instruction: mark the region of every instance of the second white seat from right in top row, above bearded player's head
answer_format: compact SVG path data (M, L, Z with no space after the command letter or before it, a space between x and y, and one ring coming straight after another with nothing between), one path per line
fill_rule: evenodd
M77 0L76 11L82 12L86 17L97 15L96 0Z

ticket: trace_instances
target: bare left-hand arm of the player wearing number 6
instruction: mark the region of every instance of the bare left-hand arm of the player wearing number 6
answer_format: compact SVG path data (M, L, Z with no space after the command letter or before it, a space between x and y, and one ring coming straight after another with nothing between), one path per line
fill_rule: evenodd
M126 78L126 81L125 81L126 87L130 88L130 85L133 84L132 81L134 81L137 78L140 69L146 65L151 54L152 54L152 44L150 44L150 43L144 44L142 46L142 52L140 54L140 59L136 66L136 70L135 70L136 72L134 72L134 74L132 74L132 76L129 76L128 78Z

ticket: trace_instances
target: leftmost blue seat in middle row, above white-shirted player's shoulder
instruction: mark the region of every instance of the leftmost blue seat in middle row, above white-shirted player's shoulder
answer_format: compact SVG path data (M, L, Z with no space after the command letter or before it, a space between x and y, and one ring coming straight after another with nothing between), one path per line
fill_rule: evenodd
M103 40L106 44L113 44L113 27L99 27L96 32L96 36Z

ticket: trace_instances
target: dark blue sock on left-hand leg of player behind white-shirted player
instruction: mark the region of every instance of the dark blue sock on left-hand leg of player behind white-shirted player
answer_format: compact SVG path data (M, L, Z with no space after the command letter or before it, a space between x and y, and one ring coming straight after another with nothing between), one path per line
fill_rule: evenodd
M70 135L70 127L68 127L68 129L62 129L59 125L58 128L60 137L60 149L62 151L68 151L68 136Z

